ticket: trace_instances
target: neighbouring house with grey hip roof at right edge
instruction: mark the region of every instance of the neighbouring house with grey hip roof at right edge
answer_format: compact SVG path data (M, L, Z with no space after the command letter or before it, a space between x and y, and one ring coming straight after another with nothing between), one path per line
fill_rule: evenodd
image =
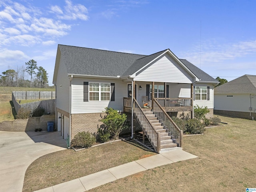
M214 88L214 114L256 119L256 75L244 75Z

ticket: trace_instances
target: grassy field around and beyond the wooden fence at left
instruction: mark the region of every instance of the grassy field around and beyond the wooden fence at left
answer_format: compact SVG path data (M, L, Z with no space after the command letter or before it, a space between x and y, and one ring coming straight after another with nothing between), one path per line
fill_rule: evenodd
M12 106L12 91L55 91L55 89L0 86L0 122L14 120L14 116L16 116L16 111ZM34 101L38 100L21 100L21 104Z

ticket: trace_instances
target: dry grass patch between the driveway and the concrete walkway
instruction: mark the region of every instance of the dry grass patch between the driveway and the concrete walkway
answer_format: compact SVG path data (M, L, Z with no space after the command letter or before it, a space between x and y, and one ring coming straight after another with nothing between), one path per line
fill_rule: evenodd
M53 186L154 154L123 141L78 152L67 149L47 154L26 170L23 192Z

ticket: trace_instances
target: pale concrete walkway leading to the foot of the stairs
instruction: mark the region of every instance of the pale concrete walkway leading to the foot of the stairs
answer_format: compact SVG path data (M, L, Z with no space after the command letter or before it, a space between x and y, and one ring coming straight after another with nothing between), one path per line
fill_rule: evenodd
M197 158L197 156L183 150L174 150L37 190L36 192L84 192L138 172L192 158Z

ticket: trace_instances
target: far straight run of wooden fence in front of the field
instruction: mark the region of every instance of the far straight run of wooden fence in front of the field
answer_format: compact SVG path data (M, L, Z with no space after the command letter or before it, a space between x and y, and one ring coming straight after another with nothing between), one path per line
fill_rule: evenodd
M13 91L16 100L55 99L55 91Z

